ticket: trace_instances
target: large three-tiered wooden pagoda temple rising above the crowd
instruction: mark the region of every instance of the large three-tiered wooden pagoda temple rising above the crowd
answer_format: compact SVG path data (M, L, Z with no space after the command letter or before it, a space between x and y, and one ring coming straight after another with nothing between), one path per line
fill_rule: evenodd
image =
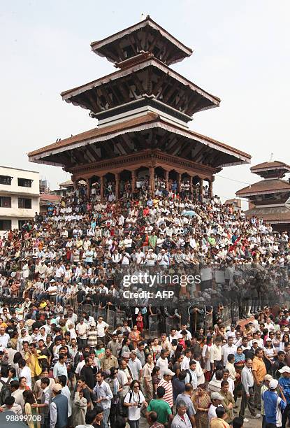
M250 161L247 153L189 129L195 113L220 99L169 67L192 50L149 16L91 46L117 71L61 97L89 110L97 126L30 152L30 162L61 166L75 186L85 180L88 197L92 184L100 183L102 199L106 183L113 183L118 199L125 180L134 190L144 175L151 194L162 177L167 190L175 180L177 191L184 179L191 190L202 190L205 180L211 196L215 173Z

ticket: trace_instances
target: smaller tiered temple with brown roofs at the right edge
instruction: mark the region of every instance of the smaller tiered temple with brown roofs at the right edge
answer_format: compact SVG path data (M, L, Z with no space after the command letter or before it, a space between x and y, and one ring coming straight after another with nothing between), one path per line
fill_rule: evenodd
M283 180L290 173L290 166L269 161L252 166L250 170L263 180L236 192L238 197L249 199L246 216L263 217L264 223L272 224L274 230L290 231L290 179Z

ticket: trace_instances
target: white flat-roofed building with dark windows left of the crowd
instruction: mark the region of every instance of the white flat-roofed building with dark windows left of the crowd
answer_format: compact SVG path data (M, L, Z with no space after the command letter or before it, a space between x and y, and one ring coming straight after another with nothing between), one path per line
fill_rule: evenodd
M39 213L39 173L0 166L0 235Z

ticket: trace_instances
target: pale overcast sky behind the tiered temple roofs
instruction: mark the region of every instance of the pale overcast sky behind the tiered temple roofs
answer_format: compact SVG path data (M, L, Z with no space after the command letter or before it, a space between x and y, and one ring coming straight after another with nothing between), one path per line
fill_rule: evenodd
M96 126L59 93L115 71L89 43L141 13L193 48L173 68L222 99L194 115L191 129L248 152L252 164L271 152L290 163L288 0L2 0L0 8L1 165L39 171L52 188L68 179L60 168L29 163L27 152ZM259 180L249 165L219 176L214 192L224 198Z

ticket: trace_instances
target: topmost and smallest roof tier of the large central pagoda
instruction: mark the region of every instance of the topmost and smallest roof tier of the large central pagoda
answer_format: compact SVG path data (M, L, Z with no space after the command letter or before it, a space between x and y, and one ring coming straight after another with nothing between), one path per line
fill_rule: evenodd
M91 43L92 51L118 68L139 62L144 56L156 57L166 65L190 57L192 50L154 22L149 15L101 41Z

